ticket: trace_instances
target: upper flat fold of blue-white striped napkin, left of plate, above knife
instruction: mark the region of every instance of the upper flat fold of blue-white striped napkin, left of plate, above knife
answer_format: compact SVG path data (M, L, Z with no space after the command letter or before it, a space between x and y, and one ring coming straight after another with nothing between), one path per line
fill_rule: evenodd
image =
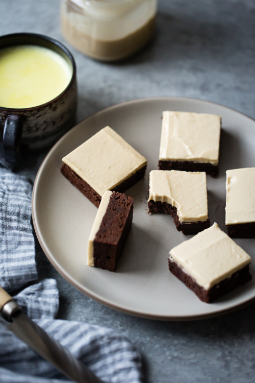
M0 171L0 280L10 291L37 278L30 223L32 185L7 169Z

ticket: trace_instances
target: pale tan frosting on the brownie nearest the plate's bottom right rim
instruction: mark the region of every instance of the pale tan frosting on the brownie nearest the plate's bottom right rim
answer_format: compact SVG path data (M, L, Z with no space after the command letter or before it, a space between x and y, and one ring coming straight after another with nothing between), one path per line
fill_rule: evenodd
M251 262L250 256L216 223L174 247L169 254L205 290Z

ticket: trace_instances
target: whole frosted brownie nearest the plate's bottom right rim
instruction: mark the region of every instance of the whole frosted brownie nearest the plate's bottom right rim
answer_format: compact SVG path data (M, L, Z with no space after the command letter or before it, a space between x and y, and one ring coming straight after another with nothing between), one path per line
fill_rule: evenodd
M207 303L250 280L250 262L216 223L174 247L168 258L170 272Z

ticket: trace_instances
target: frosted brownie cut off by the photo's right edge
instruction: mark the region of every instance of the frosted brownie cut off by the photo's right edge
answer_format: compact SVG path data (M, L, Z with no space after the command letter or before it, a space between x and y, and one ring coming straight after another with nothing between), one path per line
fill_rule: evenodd
M226 171L225 224L234 238L255 237L255 167Z

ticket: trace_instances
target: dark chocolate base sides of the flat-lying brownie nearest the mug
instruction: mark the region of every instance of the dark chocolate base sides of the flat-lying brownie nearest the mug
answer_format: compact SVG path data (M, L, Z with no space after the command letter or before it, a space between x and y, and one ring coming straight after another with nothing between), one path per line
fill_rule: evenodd
M99 206L101 196L78 174L76 174L67 164L63 163L61 166L61 173L72 185L77 187L96 207ZM145 174L146 165L139 169L136 173L132 174L129 178L121 182L119 185L114 187L115 192L124 192L124 190L133 186L136 182L140 181Z

